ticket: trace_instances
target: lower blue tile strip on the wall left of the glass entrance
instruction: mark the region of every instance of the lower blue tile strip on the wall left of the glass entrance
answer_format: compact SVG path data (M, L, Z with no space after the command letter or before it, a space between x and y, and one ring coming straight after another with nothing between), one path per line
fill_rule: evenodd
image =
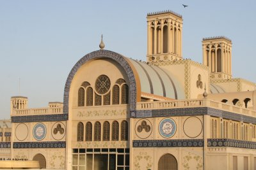
M65 141L13 142L13 148L66 148Z

